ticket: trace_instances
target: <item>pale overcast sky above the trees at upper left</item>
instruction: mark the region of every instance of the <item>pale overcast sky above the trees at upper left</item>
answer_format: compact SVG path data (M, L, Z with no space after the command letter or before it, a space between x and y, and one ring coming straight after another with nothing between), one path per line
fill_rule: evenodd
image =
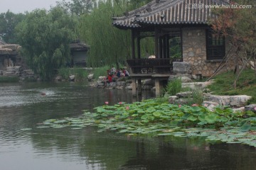
M56 5L56 1L62 0L0 0L0 13L5 13L8 9L13 13L31 12L36 8L48 10L50 6Z

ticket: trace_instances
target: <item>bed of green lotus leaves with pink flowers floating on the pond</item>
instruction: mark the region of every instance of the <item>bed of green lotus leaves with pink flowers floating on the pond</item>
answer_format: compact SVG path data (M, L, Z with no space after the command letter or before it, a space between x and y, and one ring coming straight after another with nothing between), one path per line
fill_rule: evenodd
M87 125L97 125L98 132L115 130L127 135L200 136L208 141L240 142L256 147L256 115L252 111L234 113L226 107L209 111L205 106L177 106L154 99L99 106L94 113L85 111L80 118L46 120L38 128L70 126L80 129Z

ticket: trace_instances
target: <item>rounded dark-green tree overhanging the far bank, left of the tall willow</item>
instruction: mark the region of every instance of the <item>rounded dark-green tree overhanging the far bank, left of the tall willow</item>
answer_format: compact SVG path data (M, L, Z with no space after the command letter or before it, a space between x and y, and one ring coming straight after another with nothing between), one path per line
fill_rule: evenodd
M42 79L51 79L54 69L70 61L71 40L74 39L75 21L62 8L49 12L36 10L16 27L22 46L22 55Z

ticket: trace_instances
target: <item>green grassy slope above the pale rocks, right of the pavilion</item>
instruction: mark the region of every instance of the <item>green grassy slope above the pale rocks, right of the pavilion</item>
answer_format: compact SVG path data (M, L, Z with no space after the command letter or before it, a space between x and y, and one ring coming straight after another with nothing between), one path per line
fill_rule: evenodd
M215 83L208 86L213 94L218 95L241 95L252 96L248 104L256 103L256 76L253 69L246 69L240 75L237 82L237 88L234 89L235 74L233 72L225 72L217 75Z

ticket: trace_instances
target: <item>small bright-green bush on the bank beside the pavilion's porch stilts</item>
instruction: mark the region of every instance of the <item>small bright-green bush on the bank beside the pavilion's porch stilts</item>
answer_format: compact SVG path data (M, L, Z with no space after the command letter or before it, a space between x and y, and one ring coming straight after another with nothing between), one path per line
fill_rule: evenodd
M166 88L164 89L164 92L166 94L169 94L170 96L174 96L177 93L181 92L181 88L182 88L181 85L182 85L181 79L171 80L169 81Z

